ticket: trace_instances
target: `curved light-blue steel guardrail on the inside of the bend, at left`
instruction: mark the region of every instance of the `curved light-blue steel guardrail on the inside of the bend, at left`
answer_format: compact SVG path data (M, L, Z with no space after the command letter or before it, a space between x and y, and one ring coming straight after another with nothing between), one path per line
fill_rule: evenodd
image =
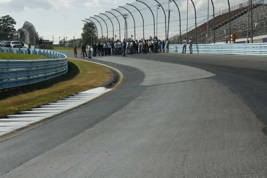
M22 50L23 49L23 50ZM67 56L55 51L0 47L1 52L21 52L44 55L52 59L40 60L0 60L0 90L29 85L49 80L68 71Z

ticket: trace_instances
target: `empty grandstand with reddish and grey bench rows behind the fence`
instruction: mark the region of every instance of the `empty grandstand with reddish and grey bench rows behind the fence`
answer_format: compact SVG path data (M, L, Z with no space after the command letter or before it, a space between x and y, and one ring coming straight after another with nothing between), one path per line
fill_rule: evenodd
M267 35L266 33L267 31L267 28L266 28L267 4L266 3L263 4L262 1L258 1L257 3L252 4L252 12L253 12L253 20L252 20L253 36ZM244 5L240 6L239 9L235 9L230 12L231 34L236 34L236 39L247 38L247 32L248 32L247 31L247 24L248 24L247 13L248 13L247 4L246 6ZM228 12L215 16L215 41L216 42L226 42L226 41L229 42L229 24L228 23L229 23ZM183 33L182 36L192 37L193 41L197 42L197 44L206 44L207 43L207 24L209 24L208 43L213 43L214 42L213 18L209 20L209 23L205 22L202 25L198 26L196 29L194 28L193 30L189 31L188 34ZM250 24L251 24L251 19L249 15L249 36L251 36ZM197 40L195 40L196 31L197 31ZM181 43L182 39L179 39L179 34L177 34L171 37L169 40L176 44L179 44Z

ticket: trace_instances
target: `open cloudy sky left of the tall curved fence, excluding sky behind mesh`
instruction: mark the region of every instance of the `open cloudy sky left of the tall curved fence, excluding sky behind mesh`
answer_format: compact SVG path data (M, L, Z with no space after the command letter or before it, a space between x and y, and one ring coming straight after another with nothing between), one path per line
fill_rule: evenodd
M135 0L127 0L127 3ZM104 3L106 2L106 3ZM109 11L125 4L123 0L0 0L0 17L10 15L17 24L16 30L25 21L32 23L36 32L44 39L53 39L58 44L62 39L81 37L85 18ZM75 7L74 7L75 6Z

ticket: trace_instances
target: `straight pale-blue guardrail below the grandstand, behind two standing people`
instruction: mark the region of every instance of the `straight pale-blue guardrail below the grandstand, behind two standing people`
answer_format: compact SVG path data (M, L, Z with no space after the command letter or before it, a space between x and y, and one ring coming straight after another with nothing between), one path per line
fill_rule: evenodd
M182 53L182 51L183 45L169 45L169 52L171 53ZM186 52L190 53L188 44ZM267 55L267 43L193 45L193 53Z

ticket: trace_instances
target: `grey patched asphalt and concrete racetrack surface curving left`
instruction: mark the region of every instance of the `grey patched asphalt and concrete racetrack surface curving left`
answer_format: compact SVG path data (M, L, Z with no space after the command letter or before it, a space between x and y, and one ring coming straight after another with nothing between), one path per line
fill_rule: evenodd
M267 177L266 57L90 61L120 70L123 84L0 142L1 178Z

